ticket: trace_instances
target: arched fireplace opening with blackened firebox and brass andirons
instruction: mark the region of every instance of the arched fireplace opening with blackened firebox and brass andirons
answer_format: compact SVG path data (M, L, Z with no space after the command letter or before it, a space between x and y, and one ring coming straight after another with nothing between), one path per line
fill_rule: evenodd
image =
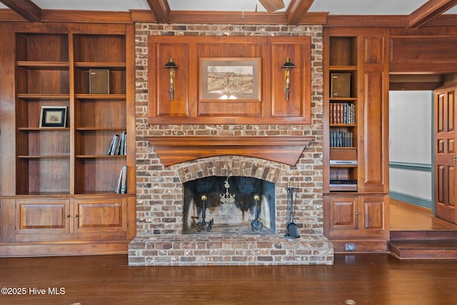
M275 234L275 184L247 176L184 183L184 234Z

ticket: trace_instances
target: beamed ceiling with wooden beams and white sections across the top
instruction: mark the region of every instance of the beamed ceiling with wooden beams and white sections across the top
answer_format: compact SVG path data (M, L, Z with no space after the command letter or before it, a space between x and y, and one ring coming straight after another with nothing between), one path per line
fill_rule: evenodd
M416 28L456 26L456 4L457 0L0 0L0 21Z

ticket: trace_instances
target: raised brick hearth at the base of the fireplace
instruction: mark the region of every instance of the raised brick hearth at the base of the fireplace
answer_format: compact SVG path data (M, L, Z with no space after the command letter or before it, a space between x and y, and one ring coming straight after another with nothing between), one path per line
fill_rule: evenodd
M333 246L322 236L137 236L131 266L333 264Z

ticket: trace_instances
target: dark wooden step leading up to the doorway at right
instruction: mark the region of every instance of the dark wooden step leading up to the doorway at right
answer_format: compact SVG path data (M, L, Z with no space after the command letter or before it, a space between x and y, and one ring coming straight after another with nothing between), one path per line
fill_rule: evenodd
M388 247L399 259L457 259L457 231L391 231Z

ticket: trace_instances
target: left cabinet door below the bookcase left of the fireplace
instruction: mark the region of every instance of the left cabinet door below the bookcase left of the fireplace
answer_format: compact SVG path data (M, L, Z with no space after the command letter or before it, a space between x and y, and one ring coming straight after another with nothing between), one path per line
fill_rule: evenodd
M69 233L69 200L17 200L16 234Z

